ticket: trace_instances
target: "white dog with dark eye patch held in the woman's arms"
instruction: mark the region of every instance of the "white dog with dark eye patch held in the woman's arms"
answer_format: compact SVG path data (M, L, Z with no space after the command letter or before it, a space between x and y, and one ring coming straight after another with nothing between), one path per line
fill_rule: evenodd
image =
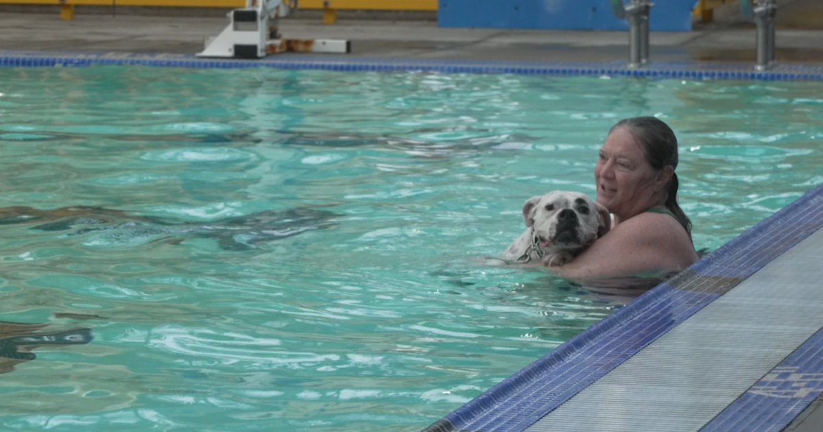
M553 191L523 205L528 227L504 253L507 262L562 266L611 229L606 207L584 193Z

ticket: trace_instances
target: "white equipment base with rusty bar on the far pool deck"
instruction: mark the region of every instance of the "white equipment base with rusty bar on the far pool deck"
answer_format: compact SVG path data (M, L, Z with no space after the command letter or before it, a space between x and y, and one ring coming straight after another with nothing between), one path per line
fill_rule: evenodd
M351 53L348 40L282 39L277 20L294 7L294 0L246 0L246 7L228 13L231 22L220 35L206 39L206 49L198 57L263 58L286 51Z

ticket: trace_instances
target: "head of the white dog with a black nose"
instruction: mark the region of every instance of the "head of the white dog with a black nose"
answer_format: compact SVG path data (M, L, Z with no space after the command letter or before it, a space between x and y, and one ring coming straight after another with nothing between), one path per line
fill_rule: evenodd
M606 207L577 192L532 197L523 205L523 221L532 227L543 249L583 249L611 229Z

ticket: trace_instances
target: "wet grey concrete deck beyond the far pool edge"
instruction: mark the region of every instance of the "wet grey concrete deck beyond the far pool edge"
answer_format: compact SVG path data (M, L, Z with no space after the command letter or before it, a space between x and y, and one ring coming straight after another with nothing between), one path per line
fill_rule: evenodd
M74 20L62 21L57 7L5 6L0 14L2 50L198 53L207 36L217 35L228 24L225 12L215 10L192 11L189 16L181 16L186 11L169 10L162 16L147 16L134 14L133 9L139 8L118 7L117 15L112 16L110 7L78 8ZM651 60L753 63L754 25L744 21L737 5L733 6L719 9L714 23L698 23L691 32L653 32ZM350 39L351 55L360 58L542 62L628 58L627 31L453 29L438 27L431 16L418 18L385 21L353 15L324 25L318 16L299 13L282 20L281 29L291 39ZM779 2L779 62L823 63L821 18L823 4L819 0Z

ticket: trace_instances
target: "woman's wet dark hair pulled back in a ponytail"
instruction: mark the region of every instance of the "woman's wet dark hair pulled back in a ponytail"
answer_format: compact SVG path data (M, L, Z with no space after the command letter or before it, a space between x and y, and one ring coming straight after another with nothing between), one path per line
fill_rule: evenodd
M626 128L635 137L652 168L663 170L666 165L672 165L672 169L677 169L677 137L663 120L655 117L624 118L612 126L609 133L617 128ZM672 173L666 188L665 205L691 238L691 221L677 204L677 186L677 173Z

